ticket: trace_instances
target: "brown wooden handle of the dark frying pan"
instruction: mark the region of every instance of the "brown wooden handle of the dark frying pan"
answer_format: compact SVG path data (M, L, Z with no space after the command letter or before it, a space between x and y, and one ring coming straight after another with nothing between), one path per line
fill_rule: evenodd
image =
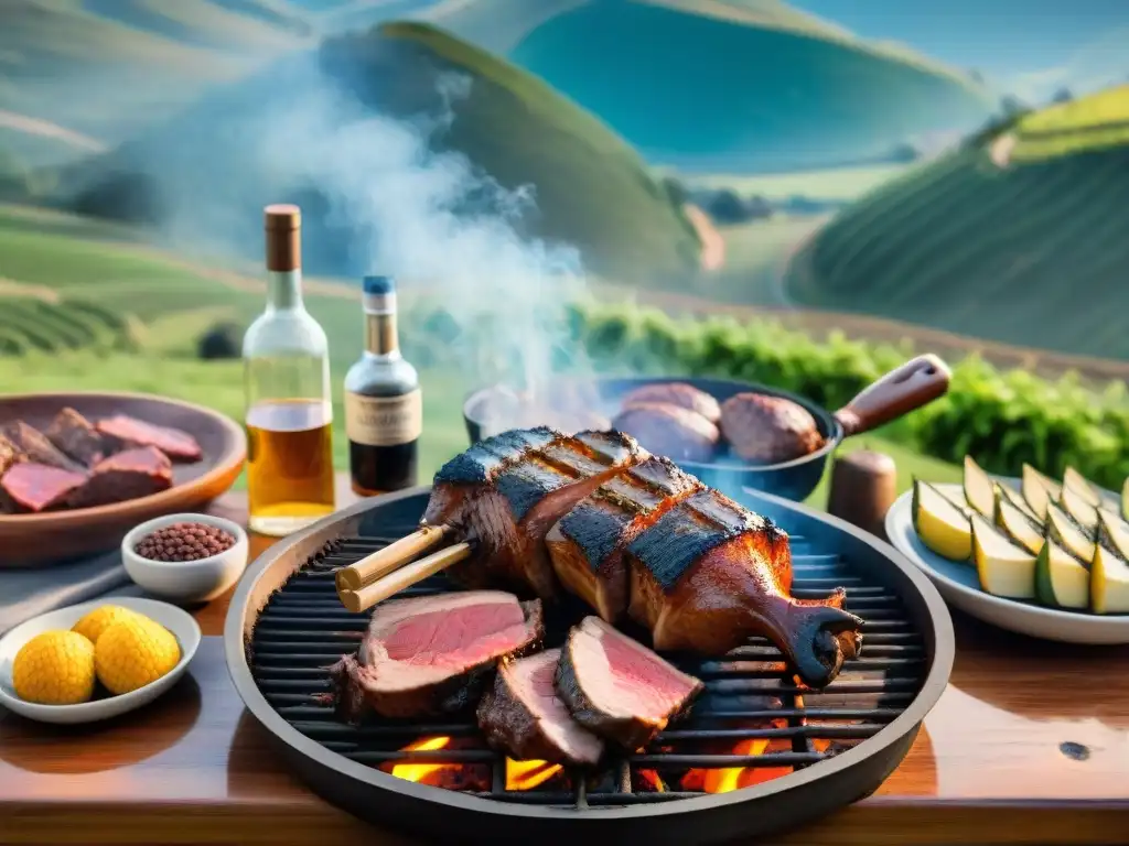
M931 353L907 361L835 412L843 438L869 432L944 396L952 377L948 365Z

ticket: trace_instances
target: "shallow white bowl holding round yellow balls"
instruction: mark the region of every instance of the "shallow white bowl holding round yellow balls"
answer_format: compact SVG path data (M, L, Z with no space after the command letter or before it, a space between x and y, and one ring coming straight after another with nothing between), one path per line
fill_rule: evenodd
M120 605L130 608L150 617L172 632L177 643L181 644L181 660L176 667L156 681L150 681L137 690L78 705L40 705L34 702L25 702L16 696L16 689L11 682L11 666L20 647L43 632L56 628L69 629L85 615L104 605ZM0 705L20 716L26 716L28 720L38 720L44 723L93 723L98 720L108 720L112 716L124 714L126 711L148 705L168 690L184 675L189 661L192 660L199 646L200 626L196 625L192 616L176 606L158 602L155 599L107 597L81 605L72 605L69 608L60 608L58 611L47 611L20 623L3 637L0 637Z

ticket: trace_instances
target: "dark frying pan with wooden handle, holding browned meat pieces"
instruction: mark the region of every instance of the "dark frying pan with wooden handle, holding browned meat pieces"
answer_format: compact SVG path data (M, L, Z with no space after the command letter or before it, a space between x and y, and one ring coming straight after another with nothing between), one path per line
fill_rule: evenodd
M886 373L834 413L805 397L754 382L695 377L604 378L596 380L599 407L592 411L607 418L614 417L628 391L642 385L675 381L693 385L711 394L719 403L745 391L798 403L811 412L824 438L823 446L814 452L771 465L750 464L729 453L710 462L679 459L676 464L710 487L730 496L738 496L742 488L752 488L799 502L806 500L820 484L828 456L844 438L869 432L944 396L948 390L951 376L948 367L936 355L919 355ZM463 404L463 421L472 443L482 439L482 412L485 397L491 390L493 389L485 388L475 391Z

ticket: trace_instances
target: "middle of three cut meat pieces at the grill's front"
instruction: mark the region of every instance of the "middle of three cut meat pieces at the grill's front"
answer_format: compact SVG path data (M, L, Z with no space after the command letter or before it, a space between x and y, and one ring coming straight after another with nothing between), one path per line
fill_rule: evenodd
M604 741L576 722L553 689L560 650L498 667L493 688L479 703L487 741L515 760L594 766Z

